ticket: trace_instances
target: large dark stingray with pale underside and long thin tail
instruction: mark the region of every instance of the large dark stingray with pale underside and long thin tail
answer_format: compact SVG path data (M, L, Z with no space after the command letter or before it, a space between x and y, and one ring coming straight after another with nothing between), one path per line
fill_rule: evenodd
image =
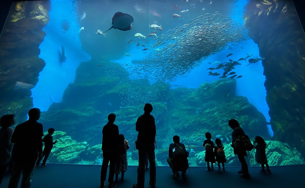
M131 23L133 22L133 17L129 14L123 12L116 12L112 17L112 26L107 30L118 29L122 31L131 30ZM106 31L104 32L106 33Z

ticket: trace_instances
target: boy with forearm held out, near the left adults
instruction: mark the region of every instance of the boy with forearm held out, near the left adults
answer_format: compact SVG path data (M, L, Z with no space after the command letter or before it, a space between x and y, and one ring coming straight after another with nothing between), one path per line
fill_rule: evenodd
M42 139L42 141L45 143L45 148L43 149L42 152L42 158L45 157L42 161L41 167L45 167L47 166L47 164L45 164L47 162L47 159L51 153L51 150L53 148L53 145L56 144L57 140L55 142L53 142L53 136L52 134L54 133L55 129L54 128L49 128L48 129L48 134L45 135L45 137ZM36 162L36 166L39 165L40 161L42 158L38 158L37 162Z

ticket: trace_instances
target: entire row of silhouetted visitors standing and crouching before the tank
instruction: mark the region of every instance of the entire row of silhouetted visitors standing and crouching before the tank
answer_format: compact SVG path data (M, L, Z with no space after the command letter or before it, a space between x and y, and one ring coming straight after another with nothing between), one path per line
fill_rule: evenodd
M155 118L150 114L153 108L147 103L144 106L144 114L138 117L135 125L138 131L138 137L135 141L135 147L138 149L139 165L137 183L133 188L144 188L145 170L149 169L149 185L154 188L156 184L156 124ZM44 136L42 124L37 120L40 118L40 110L33 108L29 111L29 120L16 126L15 130L11 127L15 124L14 115L4 115L1 117L0 129L0 184L7 169L11 171L9 180L9 188L17 188L19 179L22 173L21 188L30 188L33 171L35 166L47 166L46 161L57 141L53 141L52 134L54 128L48 129L48 134ZM109 164L109 188L117 185L118 176L121 174L121 180L124 180L124 173L128 169L127 150L129 149L129 142L124 138L123 134L119 134L119 128L114 124L116 115L109 114L108 123L103 127L102 134L102 154L103 162L101 169L100 187L105 186L106 174ZM237 155L241 169L238 171L240 177L250 179L248 165L245 160L247 156L246 151L256 149L255 159L257 163L261 164L262 169L260 173L271 173L266 157L266 143L263 138L257 136L253 144L249 137L244 133L239 123L235 119L228 122L232 128L232 142L231 147L234 149L234 154ZM44 138L42 139L42 137ZM224 163L226 156L224 146L220 139L213 143L212 135L205 134L206 140L203 142L205 147L205 161L207 163L207 171L214 169L213 164L217 162L217 172L221 173L225 170ZM45 147L43 148L43 142ZM186 179L186 171L189 169L188 165L188 151L185 145L180 143L179 136L173 137L173 142L169 146L167 162L172 169L172 177L174 179L181 177ZM149 167L148 167L149 161ZM211 163L211 166L210 166ZM267 169L265 170L265 165ZM145 167L146 166L146 167ZM115 179L114 179L115 176Z

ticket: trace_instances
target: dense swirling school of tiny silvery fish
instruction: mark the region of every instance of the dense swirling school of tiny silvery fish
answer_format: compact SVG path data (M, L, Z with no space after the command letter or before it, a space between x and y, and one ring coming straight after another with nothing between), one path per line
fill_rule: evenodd
M132 72L153 80L172 82L199 65L206 57L224 50L228 44L247 40L248 30L219 12L206 13L160 35L149 54ZM137 76L135 76L137 77Z

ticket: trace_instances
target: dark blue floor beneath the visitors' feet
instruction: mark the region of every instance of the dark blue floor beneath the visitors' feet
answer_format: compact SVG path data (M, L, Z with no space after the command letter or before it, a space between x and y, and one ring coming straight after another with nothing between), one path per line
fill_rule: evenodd
M171 187L304 187L305 165L271 167L272 174L260 174L259 167L249 168L252 179L239 178L239 168L227 167L226 172L218 173L216 170L207 172L205 167L191 167L188 179L174 180L171 170L167 166L157 166L157 188ZM34 171L31 188L99 188L100 165L63 165L49 164L47 167L37 167ZM108 175L107 175L108 178ZM149 172L146 172L145 187L150 187ZM119 182L117 187L132 187L137 180L137 166L129 166L124 182ZM0 187L7 187L9 175L5 176ZM20 185L19 185L20 186ZM106 182L106 186L108 183Z

